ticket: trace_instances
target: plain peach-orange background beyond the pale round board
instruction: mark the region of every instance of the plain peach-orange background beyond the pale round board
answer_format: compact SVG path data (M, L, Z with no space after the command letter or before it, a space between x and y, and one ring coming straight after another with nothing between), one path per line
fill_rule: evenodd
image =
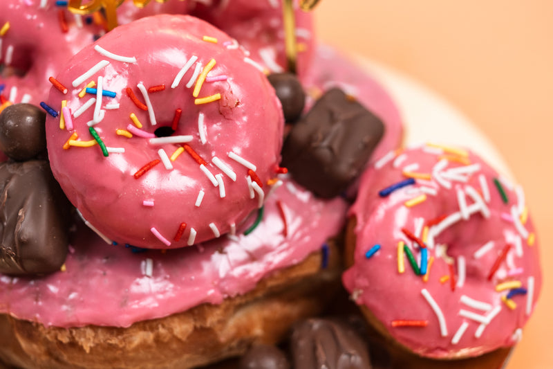
M553 368L553 2L325 0L317 28L440 93L503 154L526 191L545 283L508 368Z

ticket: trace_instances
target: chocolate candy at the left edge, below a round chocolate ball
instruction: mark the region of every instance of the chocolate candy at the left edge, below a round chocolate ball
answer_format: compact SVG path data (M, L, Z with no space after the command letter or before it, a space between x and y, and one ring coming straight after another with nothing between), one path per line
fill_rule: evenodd
M59 270L70 204L46 161L0 164L0 273Z

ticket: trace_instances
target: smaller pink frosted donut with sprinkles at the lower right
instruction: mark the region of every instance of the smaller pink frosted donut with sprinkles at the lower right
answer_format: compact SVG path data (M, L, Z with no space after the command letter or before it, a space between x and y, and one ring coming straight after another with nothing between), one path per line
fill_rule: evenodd
M541 271L519 186L465 150L424 146L377 161L350 215L344 285L380 330L433 358L520 339Z

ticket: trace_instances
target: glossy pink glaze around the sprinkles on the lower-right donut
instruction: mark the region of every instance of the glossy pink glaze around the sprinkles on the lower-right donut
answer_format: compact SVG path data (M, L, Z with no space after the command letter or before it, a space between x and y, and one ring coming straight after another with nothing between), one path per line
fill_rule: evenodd
M522 192L517 190L519 191L517 195L516 190L510 190L507 188L509 185L503 184L508 197L508 204L504 204L493 181L494 178L498 178L498 174L474 154L470 154L469 160L471 165L478 163L480 169L469 175L466 183L446 180L451 184L451 189L444 188L436 178L443 179L447 176L443 174L444 172L465 164L448 161L447 167L436 175L433 168L436 168L440 154L425 150L435 149L406 150L399 154L402 159L397 159L398 156L396 156L382 169L371 168L364 173L359 197L350 210L350 215L357 219L355 228L357 243L355 264L344 273L344 285L357 304L367 307L394 339L423 356L435 358L476 356L496 348L513 345L518 335L516 332L529 318L529 313L533 311L541 289L537 242L534 246L530 246L529 243L532 241L527 240L524 231L522 233L518 231L512 220L509 220L512 207L517 216L521 213L520 209L525 208ZM408 170L430 173L433 180L417 179L415 185L396 190L388 197L379 197L380 190L406 179L402 174L403 168L413 164L417 164L418 168L412 167ZM427 222L442 215L450 216L453 213L459 213L462 201L458 202L458 189L466 191L467 186L471 186L478 192L478 196L483 197L485 190L480 186L480 174L485 177L489 188L490 201L482 200L489 208L489 218L486 219L482 211L478 210L482 206L474 206L476 202L469 196L465 197L467 206L475 207L467 220L460 219L448 228L444 228L444 231L435 237L432 235L436 234L435 230L440 226L429 228L426 243L429 256L435 260L429 269L428 282L424 282L422 276L415 275L405 257L405 271L399 273L398 242L406 242L415 258L420 260L418 246L407 239L401 229L407 228L411 233L415 233L415 226L420 220ZM405 201L422 193L421 187L434 188L437 195L427 195L425 201L411 208L405 206ZM534 233L534 226L529 217L523 228L528 234ZM486 253L482 253L480 258L476 258L475 252L489 241L493 241L494 246ZM371 258L366 258L366 251L375 244L380 244L382 249ZM447 245L447 249L439 246L440 244ZM498 271L494 273L491 280L488 280L494 262L506 244L513 245L507 253L507 259L501 262ZM461 257L465 258L466 265L464 283L460 283ZM446 260L453 263L454 276L459 283L454 291L451 290L450 280L440 282L442 276L450 274ZM501 300L501 296L507 295L509 290L497 292L496 285L509 280L520 280L523 287L529 289L529 278L534 278L532 296L529 293L525 296L514 296L512 300L516 308L507 307ZM447 334L442 336L437 315L422 295L422 289L429 291L442 310ZM491 309L500 307L499 314L491 319L480 338L475 337L480 323L460 316L460 310L465 309L483 316L488 316L490 310L480 311L461 303L460 298L463 295L487 303L491 305ZM527 304L529 304L528 312ZM428 325L427 327L391 327L392 321L404 319L428 321ZM460 336L458 343L452 343L453 337L463 322L468 323L467 330Z

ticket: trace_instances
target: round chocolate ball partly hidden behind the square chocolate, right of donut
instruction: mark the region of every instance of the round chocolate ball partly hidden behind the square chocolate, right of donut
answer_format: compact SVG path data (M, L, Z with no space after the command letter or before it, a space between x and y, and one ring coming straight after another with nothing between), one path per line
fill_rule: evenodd
M277 97L281 100L286 123L294 123L301 116L306 105L306 93L301 83L292 73L274 73L268 76Z

